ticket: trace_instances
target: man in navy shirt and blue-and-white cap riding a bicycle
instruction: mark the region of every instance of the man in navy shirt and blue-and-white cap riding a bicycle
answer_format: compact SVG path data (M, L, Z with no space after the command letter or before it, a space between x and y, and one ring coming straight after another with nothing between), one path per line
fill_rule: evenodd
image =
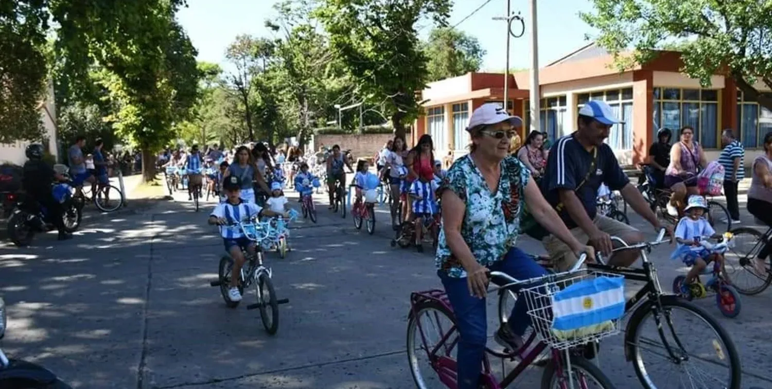
M642 242L644 236L625 223L598 215L596 205L601 184L608 185L612 191L621 191L631 208L651 223L656 231L663 228L641 192L630 184L614 151L604 143L611 127L617 123L622 122L604 101L590 100L585 103L579 110L576 132L561 137L550 149L541 184L544 198L557 209L571 234L579 242L589 242L606 255L611 253L611 235L624 239L630 245ZM670 230L668 228L672 232ZM553 235L543 238L543 244L558 270L570 269L576 262L574 252ZM638 254L635 250L620 252L609 263L630 266L638 259Z

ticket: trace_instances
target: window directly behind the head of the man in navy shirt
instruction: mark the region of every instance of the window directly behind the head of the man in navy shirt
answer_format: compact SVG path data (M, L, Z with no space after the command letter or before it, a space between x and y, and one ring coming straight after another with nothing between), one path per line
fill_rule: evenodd
M604 100L611 111L625 123L611 127L605 142L614 150L632 150L632 88L604 90L577 95L577 113L589 100Z

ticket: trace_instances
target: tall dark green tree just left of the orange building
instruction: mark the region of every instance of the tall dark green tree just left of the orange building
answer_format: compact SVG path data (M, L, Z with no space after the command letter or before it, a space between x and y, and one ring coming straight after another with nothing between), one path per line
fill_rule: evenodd
M428 78L427 58L415 24L422 18L445 25L451 0L324 0L317 17L331 46L368 103L384 104L394 133L421 110L415 91Z

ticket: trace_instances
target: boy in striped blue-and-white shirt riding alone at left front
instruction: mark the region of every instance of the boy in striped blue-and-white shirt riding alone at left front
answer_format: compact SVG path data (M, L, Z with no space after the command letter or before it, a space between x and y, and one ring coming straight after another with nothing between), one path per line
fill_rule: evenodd
M233 259L233 268L231 269L231 284L228 296L231 301L241 301L242 296L239 292L239 274L245 262L244 247L250 255L255 254L257 246L247 238L238 225L238 222L249 222L252 218L260 216L284 216L289 217L287 212L277 213L269 209L260 208L251 202L245 202L241 198L241 178L232 175L225 178L222 184L225 189L227 199L225 202L217 205L209 215L209 225L219 225L220 235L222 236L225 252L228 252Z

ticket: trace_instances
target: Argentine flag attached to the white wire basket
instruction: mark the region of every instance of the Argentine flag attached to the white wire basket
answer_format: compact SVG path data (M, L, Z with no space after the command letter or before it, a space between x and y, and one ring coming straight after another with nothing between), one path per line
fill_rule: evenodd
M576 282L552 296L552 312L552 328L564 336L591 330L588 326L594 329L590 332L606 330L625 314L625 279L599 276Z

